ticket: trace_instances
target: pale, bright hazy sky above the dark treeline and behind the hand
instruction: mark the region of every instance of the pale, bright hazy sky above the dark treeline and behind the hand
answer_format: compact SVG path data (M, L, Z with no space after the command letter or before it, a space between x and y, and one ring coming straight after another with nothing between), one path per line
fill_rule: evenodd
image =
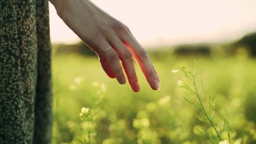
M92 0L144 46L214 43L256 31L256 0ZM80 39L50 4L52 43ZM86 27L86 26L85 26Z

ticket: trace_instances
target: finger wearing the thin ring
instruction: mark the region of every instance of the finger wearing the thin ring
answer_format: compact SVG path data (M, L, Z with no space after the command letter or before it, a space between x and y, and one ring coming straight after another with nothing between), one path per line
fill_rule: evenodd
M112 72L114 73L117 81L120 84L125 84L125 76L123 74L123 69L120 65L119 58L117 52L113 49L110 48L107 51L107 48L111 47L109 43L106 41L101 42L98 50L98 55L103 55L107 59L107 63L109 64L110 68L112 69Z

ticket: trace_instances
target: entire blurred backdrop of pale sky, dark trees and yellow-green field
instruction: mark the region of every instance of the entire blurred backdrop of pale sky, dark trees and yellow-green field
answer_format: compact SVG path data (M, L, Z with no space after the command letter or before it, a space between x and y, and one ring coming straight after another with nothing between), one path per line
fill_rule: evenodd
M232 144L256 144L255 0L93 0L128 25L161 78L152 91L139 67L141 91L119 85L101 69L96 54L57 16L50 4L53 45L53 144L210 144L211 133L189 80L172 69L200 75L200 96L217 98L213 122L223 119ZM200 83L197 84L200 87ZM89 108L82 109L81 108ZM210 109L213 104L210 105ZM212 110L210 110L212 112ZM227 128L225 130L227 130ZM228 133L224 131L228 144Z

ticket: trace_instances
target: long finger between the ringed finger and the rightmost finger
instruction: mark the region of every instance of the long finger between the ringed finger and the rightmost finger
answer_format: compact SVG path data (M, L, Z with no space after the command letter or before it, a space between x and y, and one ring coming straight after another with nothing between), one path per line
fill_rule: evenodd
M113 48L115 48L115 51L117 51L119 59L122 61L123 68L127 75L128 82L131 85L131 88L134 92L139 92L140 88L131 52L125 47L123 42L115 35L114 32L112 35L108 35L107 40L113 46Z

